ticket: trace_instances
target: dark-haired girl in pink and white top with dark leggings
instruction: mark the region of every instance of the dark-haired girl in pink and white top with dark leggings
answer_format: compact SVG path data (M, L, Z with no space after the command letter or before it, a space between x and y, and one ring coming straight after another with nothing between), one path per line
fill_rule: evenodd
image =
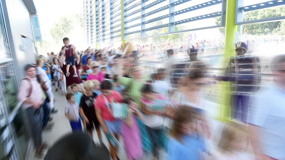
M144 84L141 88L141 109L145 115L144 123L145 129L148 132L148 135L152 143L152 154L154 159L159 159L159 146L162 148L165 146L164 139L164 125L162 113L164 110L154 110L154 104L156 100L166 100L162 95L155 94L153 92L153 87L151 84ZM163 104L161 104L163 105ZM164 106L161 106L163 108Z

